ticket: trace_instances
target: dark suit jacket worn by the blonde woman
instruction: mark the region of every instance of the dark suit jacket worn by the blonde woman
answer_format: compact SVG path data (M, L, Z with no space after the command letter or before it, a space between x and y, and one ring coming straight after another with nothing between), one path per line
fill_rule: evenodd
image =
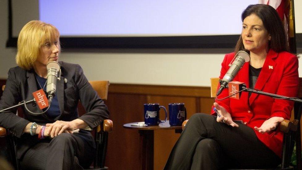
M17 137L17 156L20 158L26 150L39 142L37 136L23 133L23 129L29 122L38 124L53 123L56 120L71 121L84 120L93 129L102 120L108 119L109 111L100 99L78 64L59 62L61 64L61 80L57 82L56 95L58 97L61 115L52 119L45 114L32 115L24 109L24 118L15 115L15 111L0 113L0 126L8 129ZM64 81L65 80L65 81ZM0 100L0 110L18 104L21 101L33 99L32 92L37 91L35 73L32 70L24 70L20 67L11 68L8 72L5 90ZM86 114L79 117L77 111L78 101L81 101ZM38 106L28 105L32 112L42 112ZM89 145L95 147L91 134L80 130L80 135Z

